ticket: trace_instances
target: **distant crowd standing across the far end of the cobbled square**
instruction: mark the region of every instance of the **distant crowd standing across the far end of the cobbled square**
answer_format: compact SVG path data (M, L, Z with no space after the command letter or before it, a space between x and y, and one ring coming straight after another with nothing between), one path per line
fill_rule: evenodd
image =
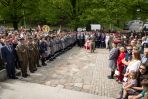
M90 52L94 52L95 48L106 48L112 49L112 42L120 42L121 45L127 44L128 37L127 34L119 33L107 33L107 32L78 32L77 33L77 43L79 47L84 47ZM123 42L122 42L123 41Z

